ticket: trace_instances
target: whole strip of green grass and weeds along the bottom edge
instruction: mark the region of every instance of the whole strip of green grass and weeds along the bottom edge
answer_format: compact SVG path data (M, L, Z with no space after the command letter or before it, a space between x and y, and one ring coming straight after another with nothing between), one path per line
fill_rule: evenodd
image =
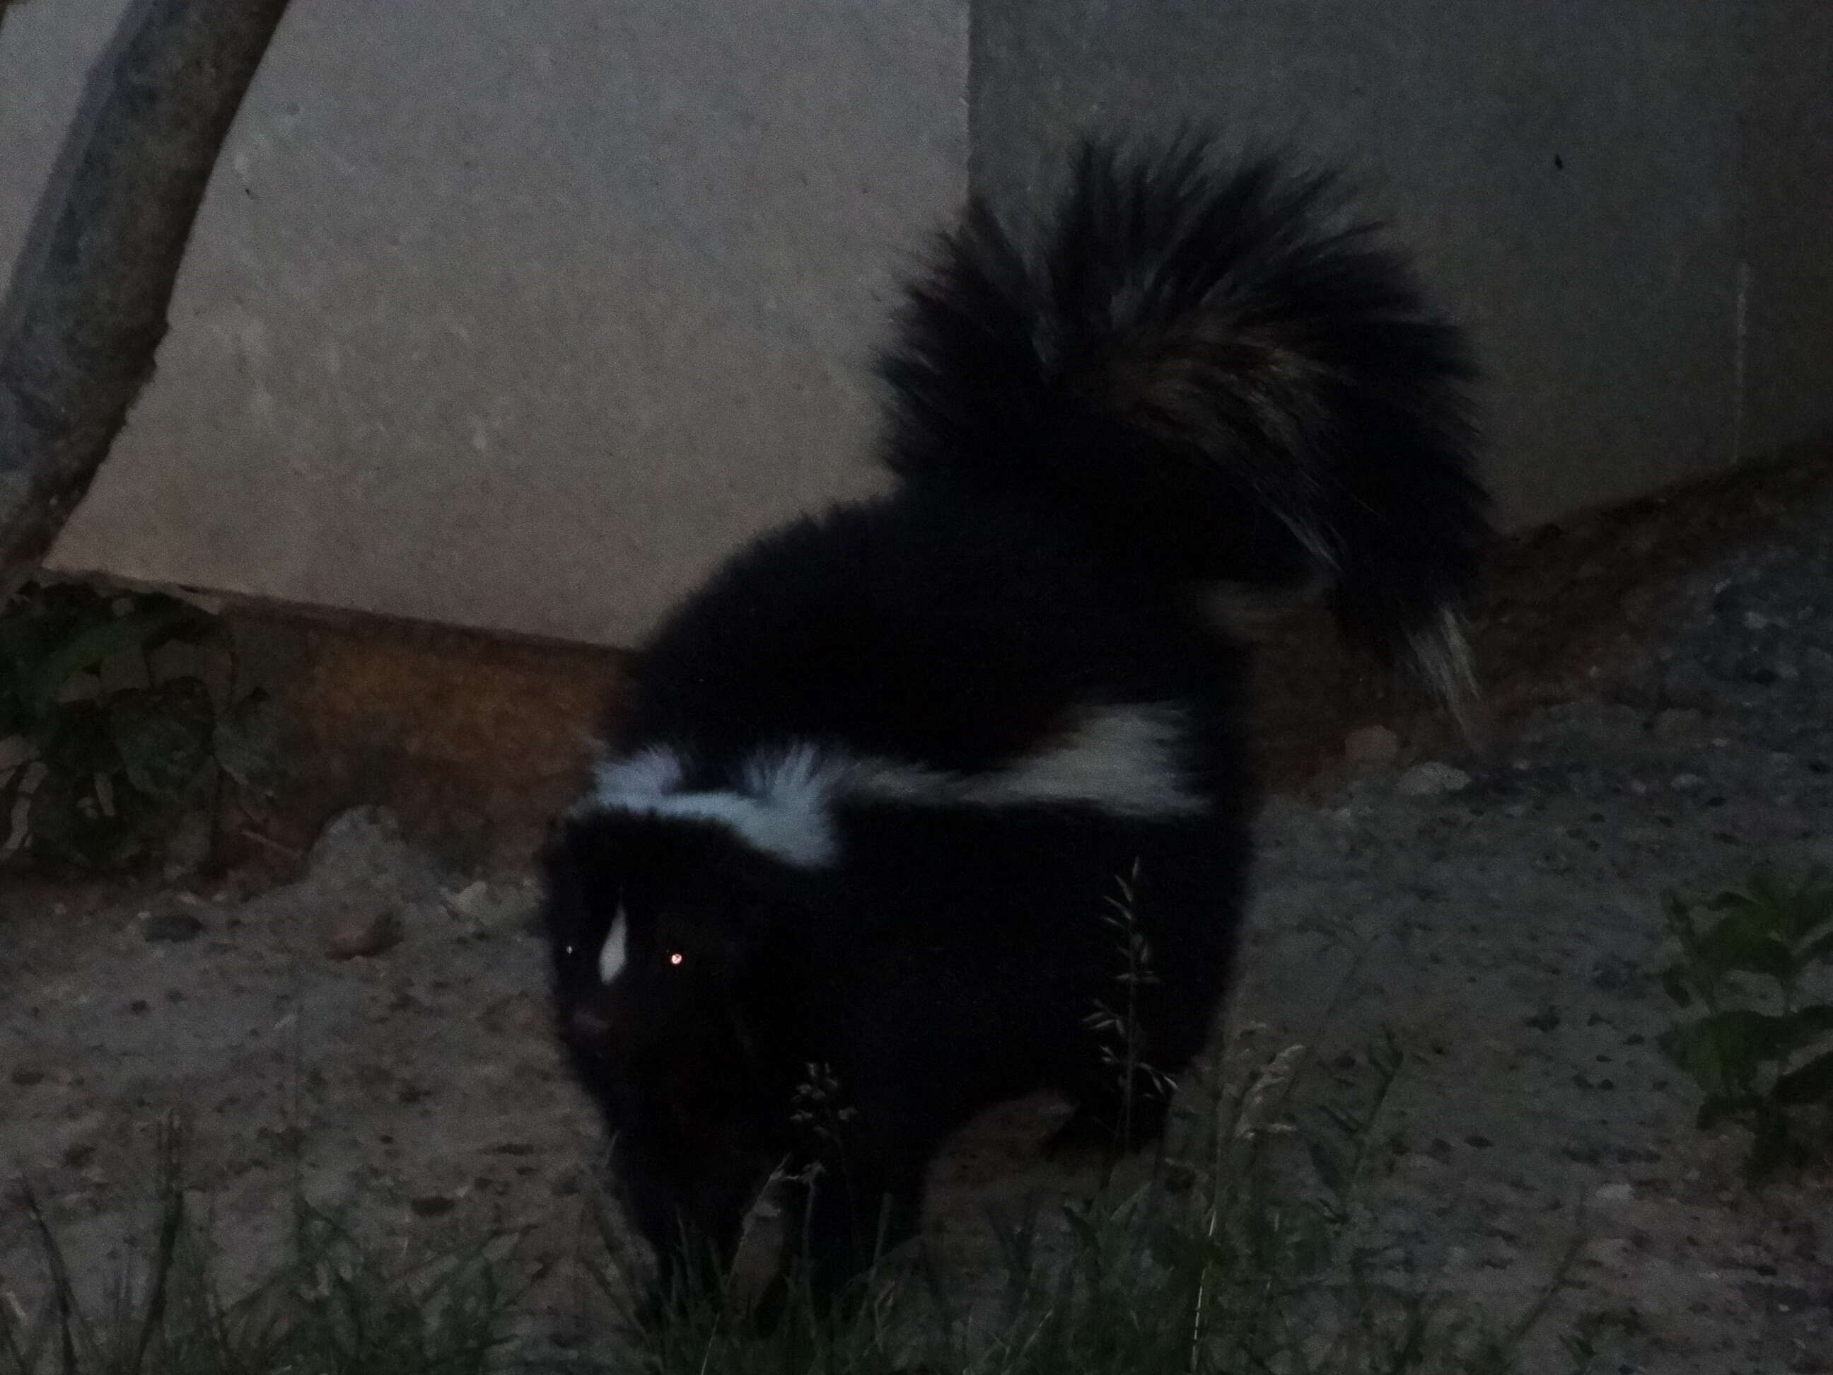
M636 1329L643 1269L599 1214L587 1239L598 1292L568 1349L515 1336L510 1238L407 1256L346 1219L293 1204L286 1254L227 1294L194 1216L176 1135L161 1140L150 1241L101 1302L73 1276L38 1203L44 1294L0 1274L0 1375L1501 1375L1540 1305L1510 1322L1393 1278L1364 1236L1358 1195L1382 1159L1377 1118L1402 1062L1369 1056L1353 1106L1292 1096L1301 1052L1232 1087L1191 1082L1173 1144L1144 1182L1032 1203L993 1219L992 1283L922 1247L884 1256L851 1304L792 1282L763 1324L731 1287L695 1287ZM982 1276L984 1278L984 1276ZM1556 1280L1556 1276L1554 1276ZM1551 1283L1549 1283L1551 1292ZM607 1304L609 1300L609 1304ZM590 1313L596 1316L588 1316ZM1595 1333L1580 1333L1584 1349Z

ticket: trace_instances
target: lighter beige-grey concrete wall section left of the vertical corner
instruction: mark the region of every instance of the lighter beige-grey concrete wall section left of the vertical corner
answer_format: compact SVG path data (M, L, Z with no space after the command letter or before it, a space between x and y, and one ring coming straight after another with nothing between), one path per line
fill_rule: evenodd
M115 15L0 31L0 268ZM295 0L51 565L631 640L878 480L863 367L964 192L966 40L964 0Z

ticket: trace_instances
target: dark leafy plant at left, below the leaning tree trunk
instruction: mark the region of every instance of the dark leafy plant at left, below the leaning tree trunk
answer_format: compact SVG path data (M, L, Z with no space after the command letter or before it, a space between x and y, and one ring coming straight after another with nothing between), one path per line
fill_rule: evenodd
M222 656L227 686L161 673L170 644ZM0 610L0 829L44 860L106 867L159 849L192 807L260 774L258 691L222 625L158 594L27 585ZM5 840L5 836L0 836Z

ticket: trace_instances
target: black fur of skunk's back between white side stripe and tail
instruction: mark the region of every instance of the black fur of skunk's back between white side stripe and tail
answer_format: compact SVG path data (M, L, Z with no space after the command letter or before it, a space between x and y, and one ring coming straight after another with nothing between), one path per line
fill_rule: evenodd
M726 565L638 660L623 735L711 783L770 742L977 774L1100 702L1228 713L1235 651L1034 502L949 484L845 506Z

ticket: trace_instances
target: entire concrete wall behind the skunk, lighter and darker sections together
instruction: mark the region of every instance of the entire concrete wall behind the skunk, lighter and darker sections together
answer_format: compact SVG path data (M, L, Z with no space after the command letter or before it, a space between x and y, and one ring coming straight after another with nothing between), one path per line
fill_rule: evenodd
M970 82L968 0L295 0L55 565L629 642L874 480L964 97L1008 207L1089 126L1347 163L1477 330L1509 524L1833 433L1824 0L971 9ZM0 268L117 11L0 31Z

